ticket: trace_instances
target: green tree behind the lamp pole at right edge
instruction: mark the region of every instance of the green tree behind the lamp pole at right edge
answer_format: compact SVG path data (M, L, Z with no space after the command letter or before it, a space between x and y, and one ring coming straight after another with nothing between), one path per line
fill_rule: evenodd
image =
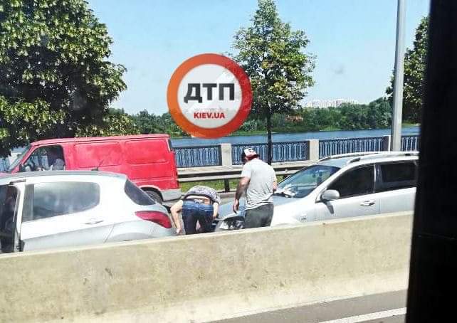
M421 122L422 99L424 97L424 72L427 42L429 39L429 18L422 18L416 28L414 47L404 55L403 120ZM394 78L386 92L392 104Z

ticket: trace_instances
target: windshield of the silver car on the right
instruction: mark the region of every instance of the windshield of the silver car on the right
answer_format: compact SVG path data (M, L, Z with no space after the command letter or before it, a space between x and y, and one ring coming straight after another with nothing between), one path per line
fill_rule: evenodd
M293 198L308 196L323 181L335 174L338 169L335 166L309 166L281 181L275 194Z

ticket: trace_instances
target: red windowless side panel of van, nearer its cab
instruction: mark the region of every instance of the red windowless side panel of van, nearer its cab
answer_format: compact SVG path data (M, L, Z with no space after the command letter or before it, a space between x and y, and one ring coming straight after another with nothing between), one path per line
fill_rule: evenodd
M122 164L122 149L119 142L75 144L75 154L75 159L81 168L118 166Z

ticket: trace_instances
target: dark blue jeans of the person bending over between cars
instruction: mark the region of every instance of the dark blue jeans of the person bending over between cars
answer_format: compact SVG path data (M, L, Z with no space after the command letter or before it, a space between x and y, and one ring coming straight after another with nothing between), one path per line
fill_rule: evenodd
M202 232L210 232L213 223L214 208L212 205L197 201L184 201L182 205L182 221L186 234L196 233L196 221L199 221Z

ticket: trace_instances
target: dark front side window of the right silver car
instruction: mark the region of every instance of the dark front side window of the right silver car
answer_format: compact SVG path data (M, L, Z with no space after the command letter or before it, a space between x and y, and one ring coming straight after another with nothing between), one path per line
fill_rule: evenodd
M340 192L340 198L371 194L374 190L374 166L350 169L336 179L327 189Z

